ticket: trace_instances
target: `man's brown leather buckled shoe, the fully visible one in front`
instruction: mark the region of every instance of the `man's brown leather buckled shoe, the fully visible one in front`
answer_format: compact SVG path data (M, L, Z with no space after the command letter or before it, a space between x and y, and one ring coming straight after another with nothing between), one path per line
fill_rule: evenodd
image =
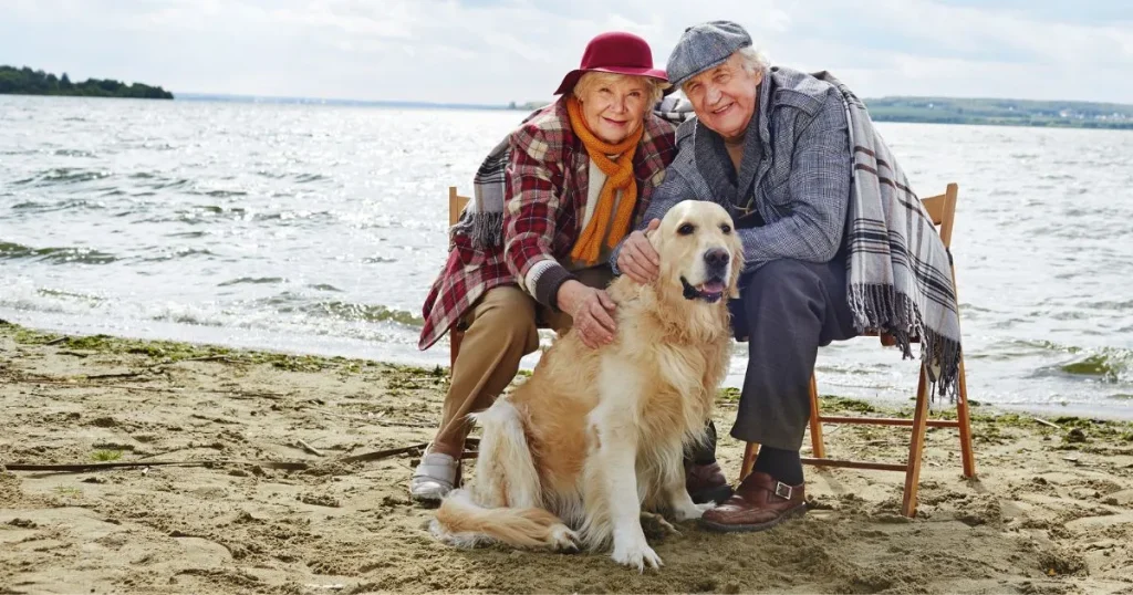
M766 473L752 473L723 504L705 511L705 528L732 533L769 529L807 512L806 484L786 485Z

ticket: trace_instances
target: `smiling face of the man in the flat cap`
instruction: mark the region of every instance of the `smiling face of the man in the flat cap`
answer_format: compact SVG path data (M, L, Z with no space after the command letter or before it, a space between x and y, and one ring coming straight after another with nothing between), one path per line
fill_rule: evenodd
M756 113L760 80L763 73L748 71L743 58L733 53L724 63L689 79L683 88L701 124L724 138L735 138L748 129Z

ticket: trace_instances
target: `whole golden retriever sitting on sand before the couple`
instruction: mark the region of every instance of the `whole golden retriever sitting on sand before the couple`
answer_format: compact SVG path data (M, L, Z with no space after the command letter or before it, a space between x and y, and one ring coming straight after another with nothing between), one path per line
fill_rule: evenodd
M684 201L649 232L659 257L650 284L621 277L614 340L596 349L568 332L531 377L475 419L476 477L441 503L433 534L458 546L590 551L638 570L661 559L641 516L700 518L684 488L685 447L705 439L732 337L740 239L719 205Z

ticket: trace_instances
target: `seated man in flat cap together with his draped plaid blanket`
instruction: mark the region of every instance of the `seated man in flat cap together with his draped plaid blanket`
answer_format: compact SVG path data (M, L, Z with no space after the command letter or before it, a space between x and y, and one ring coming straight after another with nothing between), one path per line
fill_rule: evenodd
M954 391L949 256L866 107L829 74L770 68L730 22L685 29L667 73L696 118L678 129L676 159L642 221L656 229L687 198L732 213L746 260L733 326L748 340L732 436L761 444L751 475L702 522L761 530L806 512L799 449L819 347L875 329L913 357L917 337L930 379ZM656 277L648 229L611 255L615 274Z

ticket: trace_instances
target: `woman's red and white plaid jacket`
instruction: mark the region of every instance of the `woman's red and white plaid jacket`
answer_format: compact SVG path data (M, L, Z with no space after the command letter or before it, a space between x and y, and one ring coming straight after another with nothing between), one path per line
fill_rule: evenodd
M586 212L590 158L570 128L565 101L547 105L511 133L510 144L503 245L478 249L468 235L452 233L449 258L421 307L425 325L419 349L440 340L487 290L518 284L536 296L536 288L527 281L540 270L570 262ZM675 154L673 126L647 113L633 155L634 221L649 206Z

